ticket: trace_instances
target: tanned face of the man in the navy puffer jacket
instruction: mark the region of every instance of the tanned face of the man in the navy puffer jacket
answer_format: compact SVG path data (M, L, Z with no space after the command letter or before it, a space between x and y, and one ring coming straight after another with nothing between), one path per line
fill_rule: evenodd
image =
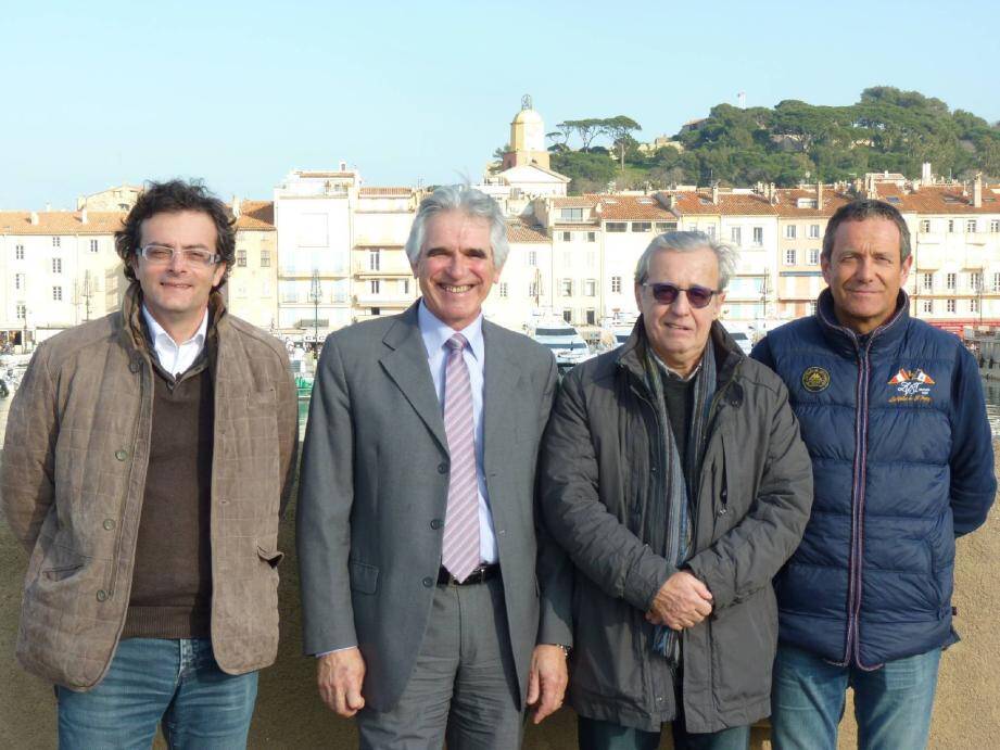
M822 268L841 326L865 334L896 312L899 290L913 263L912 255L900 262L899 240L899 228L881 217L837 227Z

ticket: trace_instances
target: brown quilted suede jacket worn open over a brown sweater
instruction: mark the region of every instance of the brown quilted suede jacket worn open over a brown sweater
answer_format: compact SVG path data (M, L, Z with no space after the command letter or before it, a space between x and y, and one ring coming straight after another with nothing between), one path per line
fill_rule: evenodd
M284 347L211 306L217 336L212 463L212 645L231 674L278 649L278 519L299 443ZM103 678L125 624L149 461L153 369L141 292L38 346L14 396L0 499L30 555L17 659L86 690Z

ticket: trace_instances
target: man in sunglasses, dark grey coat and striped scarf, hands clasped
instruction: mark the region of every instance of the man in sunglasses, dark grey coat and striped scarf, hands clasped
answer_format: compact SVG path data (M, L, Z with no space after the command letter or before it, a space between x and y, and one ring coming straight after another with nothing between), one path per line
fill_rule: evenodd
M542 448L548 530L575 564L569 696L583 749L746 748L770 712L771 579L809 518L787 391L718 322L735 252L656 238L621 347L562 383Z

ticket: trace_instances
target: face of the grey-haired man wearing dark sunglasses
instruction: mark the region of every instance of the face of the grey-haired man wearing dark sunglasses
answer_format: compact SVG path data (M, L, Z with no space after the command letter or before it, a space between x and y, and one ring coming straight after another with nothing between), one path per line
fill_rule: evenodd
M646 283L668 282L683 289L719 289L719 260L710 247L692 251L663 250L649 259ZM705 307L692 307L686 293L669 305L657 302L649 287L635 284L635 304L643 314L653 351L682 376L688 376L701 359L712 320L719 317L725 294L716 294Z

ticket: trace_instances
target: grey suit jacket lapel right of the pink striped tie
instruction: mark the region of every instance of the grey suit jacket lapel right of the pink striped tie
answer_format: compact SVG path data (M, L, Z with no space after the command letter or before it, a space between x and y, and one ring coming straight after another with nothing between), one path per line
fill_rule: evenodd
M514 440L515 404L520 370L503 342L503 331L483 320L485 385L483 387L483 471L486 478L503 466L504 454Z

